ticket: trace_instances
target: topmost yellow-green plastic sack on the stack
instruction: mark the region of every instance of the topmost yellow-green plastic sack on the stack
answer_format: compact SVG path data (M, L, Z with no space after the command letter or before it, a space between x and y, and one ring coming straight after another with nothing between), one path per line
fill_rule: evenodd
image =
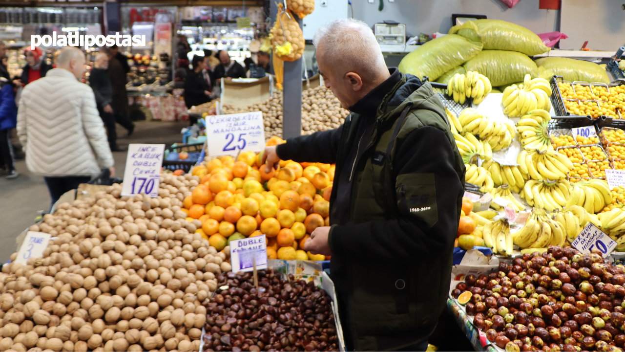
M511 50L527 55L537 55L549 51L534 32L518 24L499 19L476 19L466 21L461 26L453 26L449 34L459 34L472 41L481 41L484 50Z

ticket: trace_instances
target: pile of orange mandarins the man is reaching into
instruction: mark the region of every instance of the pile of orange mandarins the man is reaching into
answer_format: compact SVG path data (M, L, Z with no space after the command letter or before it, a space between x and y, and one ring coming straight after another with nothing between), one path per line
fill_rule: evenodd
M284 143L271 137L267 145ZM202 162L191 170L200 184L184 201L189 218L217 251L229 241L267 237L269 259L323 261L322 254L303 251L304 242L319 226L329 226L329 199L334 165L282 160L278 170L265 172L262 152L241 152Z

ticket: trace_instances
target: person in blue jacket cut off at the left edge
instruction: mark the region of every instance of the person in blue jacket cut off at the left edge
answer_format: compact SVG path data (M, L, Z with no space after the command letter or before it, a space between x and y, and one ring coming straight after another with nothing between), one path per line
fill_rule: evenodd
M11 82L0 77L0 166L6 169L6 178L15 179L15 153L11 143L11 131L17 124L17 106Z

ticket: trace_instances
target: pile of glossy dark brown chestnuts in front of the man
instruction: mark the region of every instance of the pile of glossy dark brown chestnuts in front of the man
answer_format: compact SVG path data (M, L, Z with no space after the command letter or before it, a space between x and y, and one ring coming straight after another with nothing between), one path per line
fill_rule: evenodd
M331 298L313 282L272 269L218 274L208 304L204 351L338 351Z

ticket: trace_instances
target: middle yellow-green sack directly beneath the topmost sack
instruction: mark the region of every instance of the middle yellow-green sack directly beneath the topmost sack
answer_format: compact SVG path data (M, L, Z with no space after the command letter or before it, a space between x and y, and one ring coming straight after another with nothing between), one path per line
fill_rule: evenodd
M464 63L467 71L477 71L491 80L492 86L522 81L526 74L538 76L538 68L526 54L506 50L482 50Z

